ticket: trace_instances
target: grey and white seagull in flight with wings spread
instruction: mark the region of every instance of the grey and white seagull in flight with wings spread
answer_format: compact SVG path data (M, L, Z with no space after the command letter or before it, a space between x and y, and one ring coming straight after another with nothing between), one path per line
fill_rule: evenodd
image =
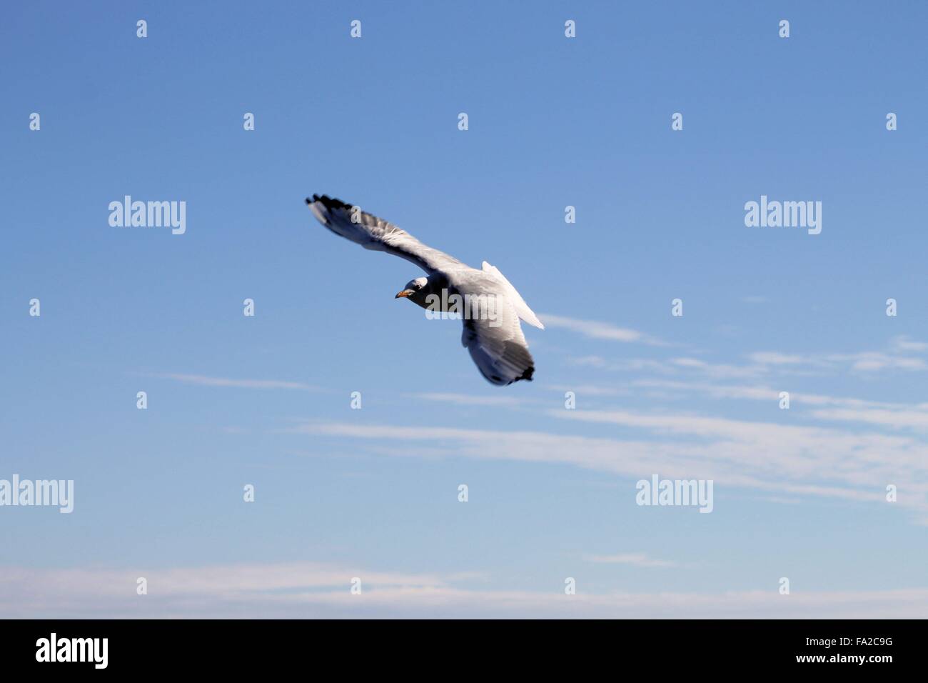
M477 315L466 314L468 308L464 307L461 344L470 351L470 358L490 383L505 387L521 379L531 381L535 360L528 351L519 320L542 330L545 326L498 269L486 261L482 270L470 268L454 256L419 242L393 223L325 194L307 197L306 204L319 222L335 234L365 249L405 258L426 272L428 277L406 282L394 298L408 299L427 310L458 313L461 300L482 302L470 309ZM458 295L458 299L453 295ZM479 314L481 311L483 314Z

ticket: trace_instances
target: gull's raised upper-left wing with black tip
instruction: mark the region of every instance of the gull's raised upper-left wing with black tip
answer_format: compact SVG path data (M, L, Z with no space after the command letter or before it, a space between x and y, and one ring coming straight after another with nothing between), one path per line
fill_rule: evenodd
M325 194L314 194L312 199L307 197L306 204L319 222L335 234L358 243L365 249L405 258L429 275L449 269L466 268L454 256L426 246L406 230L400 230L393 223L371 216L358 206L331 199Z

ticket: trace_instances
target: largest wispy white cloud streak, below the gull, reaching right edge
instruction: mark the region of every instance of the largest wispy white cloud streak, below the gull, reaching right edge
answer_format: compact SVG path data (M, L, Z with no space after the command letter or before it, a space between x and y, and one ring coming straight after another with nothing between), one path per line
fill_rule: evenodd
M385 442L429 441L445 456L562 463L632 481L658 473L714 479L716 505L732 488L885 505L885 486L906 495L898 505L928 521L928 452L922 440L832 427L629 411L548 410L566 422L599 424L617 436L460 427L305 422L290 432ZM394 453L416 453L398 449ZM415 457L415 455L408 455ZM634 495L629 483L629 495Z

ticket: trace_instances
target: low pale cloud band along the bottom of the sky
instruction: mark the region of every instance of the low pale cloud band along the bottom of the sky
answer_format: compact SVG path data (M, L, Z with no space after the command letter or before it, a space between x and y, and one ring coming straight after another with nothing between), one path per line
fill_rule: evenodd
M407 574L324 563L251 564L148 571L157 586L135 595L138 572L0 567L0 613L9 617L625 617L919 618L928 588L804 591L588 593L519 586L470 587L464 575ZM361 593L352 594L359 579ZM438 611L438 612L436 612Z

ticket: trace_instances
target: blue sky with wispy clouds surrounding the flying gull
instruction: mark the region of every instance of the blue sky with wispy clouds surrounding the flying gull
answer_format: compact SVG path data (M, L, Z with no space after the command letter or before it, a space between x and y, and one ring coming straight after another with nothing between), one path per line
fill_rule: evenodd
M922 3L3 11L0 479L75 503L0 508L0 614L928 611ZM535 381L313 192L498 267ZM110 227L126 194L186 233ZM655 473L712 514L637 506Z

